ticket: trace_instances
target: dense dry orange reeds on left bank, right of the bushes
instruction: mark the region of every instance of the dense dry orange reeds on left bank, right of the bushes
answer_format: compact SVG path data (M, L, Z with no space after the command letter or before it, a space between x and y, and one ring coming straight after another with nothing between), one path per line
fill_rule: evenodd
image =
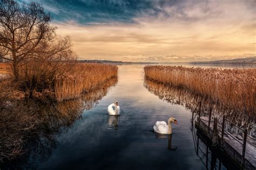
M78 98L102 86L107 80L117 77L118 67L105 64L77 64L75 72L66 72L55 77L54 91L57 101Z

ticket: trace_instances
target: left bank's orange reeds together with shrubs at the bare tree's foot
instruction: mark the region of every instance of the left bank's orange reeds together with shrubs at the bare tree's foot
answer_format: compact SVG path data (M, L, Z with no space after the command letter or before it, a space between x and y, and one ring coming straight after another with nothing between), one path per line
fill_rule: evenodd
M98 89L117 72L114 65L31 60L19 67L17 84L26 97L60 102Z

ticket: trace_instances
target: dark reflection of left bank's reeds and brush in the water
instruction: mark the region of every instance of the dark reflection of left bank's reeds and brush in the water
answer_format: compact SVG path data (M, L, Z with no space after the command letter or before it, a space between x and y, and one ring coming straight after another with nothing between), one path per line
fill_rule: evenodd
M117 78L112 78L99 89L86 93L81 98L62 103L40 104L36 101L19 101L1 108L2 115L14 115L16 119L23 119L21 123L25 124L25 128L12 129L19 135L16 138L12 137L11 140L10 135L6 135L6 131L0 132L2 138L0 159L4 161L4 164L0 164L0 169L35 169L37 162L45 161L51 156L53 149L58 145L58 135L68 131L76 120L82 118L84 110L95 107L98 101L106 96L110 87L116 84ZM10 119L2 118L1 122L9 121L10 126L4 125L5 130L13 128L11 125L17 123L16 119L10 122ZM10 146L17 144L14 140L21 140L18 146ZM6 146L10 146L10 150L4 149ZM7 156L11 152L19 152L22 156L14 155L9 158L16 157L16 159L8 160Z

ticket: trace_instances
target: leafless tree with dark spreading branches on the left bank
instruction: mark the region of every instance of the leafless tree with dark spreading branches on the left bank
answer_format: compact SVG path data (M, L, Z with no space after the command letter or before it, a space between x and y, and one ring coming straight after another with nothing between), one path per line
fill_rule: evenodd
M59 39L52 17L41 4L22 5L14 0L1 0L0 4L0 58L12 62L17 80L19 65L37 57L59 57L69 51L70 39Z

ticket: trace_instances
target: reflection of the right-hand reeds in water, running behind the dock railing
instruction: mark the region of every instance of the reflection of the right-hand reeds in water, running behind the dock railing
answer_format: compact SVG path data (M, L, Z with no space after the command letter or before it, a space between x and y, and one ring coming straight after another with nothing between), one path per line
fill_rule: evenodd
M232 110L230 111L225 106L219 103L214 103L210 97L203 97L181 87L170 87L147 79L144 80L144 86L147 90L158 96L160 99L167 101L172 105L185 106L187 110L193 111L198 105L199 101L202 101L202 103L205 105L201 106L201 115L208 115L210 113L210 107L212 107L214 111L212 112L212 118L217 118L220 124L222 123L222 118L215 112L225 115L228 120L231 120L234 124L240 126L241 128L248 128L248 134L252 135L253 137L256 134L256 124L254 119L250 119L245 114L233 112ZM247 124L244 123L245 120ZM232 134L241 133L239 128L228 124L228 122L226 122L225 128Z

